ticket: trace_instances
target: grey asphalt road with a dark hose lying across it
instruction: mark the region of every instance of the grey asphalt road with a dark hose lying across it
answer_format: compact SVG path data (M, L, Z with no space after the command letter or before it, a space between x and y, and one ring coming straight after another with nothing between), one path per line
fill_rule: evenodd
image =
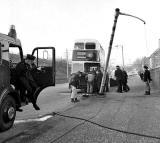
M105 98L81 97L70 103L67 85L57 85L41 93L38 104L24 107L12 129L0 134L2 143L160 143L160 92L144 95L138 76L129 80L131 90ZM54 114L58 112L58 114ZM45 121L29 121L48 113Z

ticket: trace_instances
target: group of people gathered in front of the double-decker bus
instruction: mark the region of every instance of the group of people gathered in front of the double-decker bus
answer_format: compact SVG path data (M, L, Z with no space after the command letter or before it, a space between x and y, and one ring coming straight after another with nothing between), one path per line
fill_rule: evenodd
M103 73L100 70L100 68L97 68L96 70L94 68L91 68L88 73L82 73L78 71L77 73L73 73L69 80L69 87L71 89L71 102L78 102L77 99L77 87L80 84L82 75L85 75L85 84L86 84L86 93L85 96L93 95L95 93L99 93L100 87L101 87L101 81L103 77ZM106 92L109 91L108 88L108 74L106 76L105 86L104 90Z

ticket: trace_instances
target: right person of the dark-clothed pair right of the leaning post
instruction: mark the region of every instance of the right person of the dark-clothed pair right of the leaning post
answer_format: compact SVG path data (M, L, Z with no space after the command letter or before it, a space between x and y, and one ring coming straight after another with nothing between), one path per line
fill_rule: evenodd
M122 69L123 72L123 80L122 80L122 89L123 91L127 92L130 90L129 86L127 85L128 75L125 69Z

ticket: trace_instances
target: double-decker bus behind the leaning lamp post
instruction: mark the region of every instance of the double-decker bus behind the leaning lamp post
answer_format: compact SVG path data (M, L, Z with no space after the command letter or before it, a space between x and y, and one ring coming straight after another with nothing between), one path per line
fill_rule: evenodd
M82 72L79 89L86 90L85 74L90 70L101 69L105 66L105 51L95 39L79 39L74 42L72 52L71 74Z

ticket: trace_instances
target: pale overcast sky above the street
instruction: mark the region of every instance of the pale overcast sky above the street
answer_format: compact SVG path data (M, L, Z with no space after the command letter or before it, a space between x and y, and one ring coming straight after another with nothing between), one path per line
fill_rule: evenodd
M127 16L118 18L111 59L120 61L123 45L125 63L149 56L160 37L159 0L0 0L0 32L16 27L24 53L37 46L54 46L57 57L73 49L76 39L97 39L108 51L115 9Z

